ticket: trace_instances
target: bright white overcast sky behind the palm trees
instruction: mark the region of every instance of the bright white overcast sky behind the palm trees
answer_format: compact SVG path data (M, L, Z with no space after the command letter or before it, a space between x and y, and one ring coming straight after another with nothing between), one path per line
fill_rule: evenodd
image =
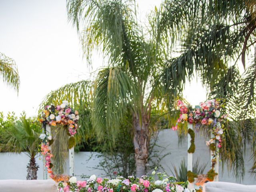
M138 0L141 20L161 0ZM13 58L20 75L15 92L0 78L0 112L37 114L38 106L51 90L92 78L103 65L94 54L92 67L83 59L79 36L67 19L66 0L0 0L0 52ZM196 105L206 100L200 82L186 84L184 97Z

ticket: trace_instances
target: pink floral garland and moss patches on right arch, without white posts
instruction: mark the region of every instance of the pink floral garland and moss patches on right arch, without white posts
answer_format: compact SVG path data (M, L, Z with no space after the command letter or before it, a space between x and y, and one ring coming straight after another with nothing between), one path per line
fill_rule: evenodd
M210 150L214 151L214 153L212 153L212 168L207 173L208 180L212 181L216 175L214 171L217 154L215 142L217 141L218 148L222 147L222 134L225 131L224 124L227 120L228 114L221 112L224 106L220 104L219 100L215 99L201 102L200 105L195 108L192 108L192 106L185 106L182 101L178 100L178 107L180 109L180 117L178 118L176 125L172 126L172 130L176 131L179 124L188 122L189 124L195 124L196 127L209 126L211 133L214 135L214 137L210 138L209 141L206 141L206 145L209 146ZM191 134L192 132L190 131L190 135ZM194 144L193 138L192 142ZM193 153L194 148L189 152ZM190 176L190 181L194 180L194 174L192 174L192 172L188 172L188 176Z

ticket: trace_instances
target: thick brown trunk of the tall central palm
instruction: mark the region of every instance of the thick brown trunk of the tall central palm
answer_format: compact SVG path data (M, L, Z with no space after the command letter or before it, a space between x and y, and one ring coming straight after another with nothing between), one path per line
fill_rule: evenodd
M138 116L133 117L134 126L134 152L136 176L140 177L146 175L146 163L148 160L148 124L149 120L146 115L142 116L142 122L139 121Z

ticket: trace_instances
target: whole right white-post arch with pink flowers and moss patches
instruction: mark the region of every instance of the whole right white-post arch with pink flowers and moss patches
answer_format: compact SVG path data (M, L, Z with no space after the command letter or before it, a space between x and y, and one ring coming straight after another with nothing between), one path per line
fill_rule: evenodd
M228 114L223 113L224 105L220 100L208 100L201 102L195 108L186 106L182 101L178 100L177 106L180 109L180 116L172 130L177 130L178 126L187 126L188 131L188 166L187 176L189 185L188 188L194 188L194 178L198 176L192 172L193 153L195 152L195 128L207 126L210 131L210 140L206 141L206 145L210 149L210 170L206 174L206 180L218 181L219 173L219 148L222 147L222 135L225 130L225 123Z

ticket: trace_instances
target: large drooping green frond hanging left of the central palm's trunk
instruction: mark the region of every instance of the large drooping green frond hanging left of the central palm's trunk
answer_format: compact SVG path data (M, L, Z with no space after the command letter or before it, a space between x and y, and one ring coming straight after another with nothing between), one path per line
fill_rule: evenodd
M130 102L136 102L136 90L132 79L120 68L105 68L98 73L94 84L92 124L100 142L106 142L110 147L114 145Z

